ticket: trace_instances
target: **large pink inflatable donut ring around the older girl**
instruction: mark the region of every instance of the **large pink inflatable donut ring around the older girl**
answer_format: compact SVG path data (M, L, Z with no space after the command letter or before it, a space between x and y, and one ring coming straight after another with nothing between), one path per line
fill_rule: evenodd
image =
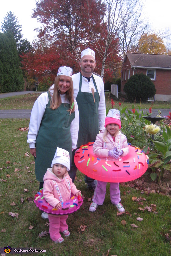
M89 142L76 150L74 162L80 172L98 181L132 181L146 172L149 161L139 148L128 147L129 153L122 157L122 161L106 161L93 153L93 142Z

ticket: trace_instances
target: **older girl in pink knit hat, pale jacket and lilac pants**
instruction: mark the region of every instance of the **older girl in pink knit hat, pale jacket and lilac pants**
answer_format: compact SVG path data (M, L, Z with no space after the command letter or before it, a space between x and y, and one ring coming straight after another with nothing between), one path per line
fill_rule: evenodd
M110 109L105 119L105 129L96 136L93 145L93 152L96 156L106 161L114 159L121 161L121 157L129 153L127 138L119 129L121 128L120 112ZM105 199L107 182L98 181L92 203L89 207L90 212L96 211L98 205L102 205ZM119 212L125 209L120 203L119 183L110 182L110 199L112 204L117 207Z

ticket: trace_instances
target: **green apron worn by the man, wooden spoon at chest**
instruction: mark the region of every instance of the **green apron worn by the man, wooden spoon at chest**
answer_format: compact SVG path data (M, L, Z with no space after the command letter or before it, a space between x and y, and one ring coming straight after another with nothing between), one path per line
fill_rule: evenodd
M82 87L82 74L80 73L79 92L76 97L79 110L79 133L77 147L86 144L90 141L95 141L96 135L99 133L99 101L100 96L97 90L95 79L93 78L93 84L96 92L94 93L95 103L93 100L93 94L88 92L81 92Z

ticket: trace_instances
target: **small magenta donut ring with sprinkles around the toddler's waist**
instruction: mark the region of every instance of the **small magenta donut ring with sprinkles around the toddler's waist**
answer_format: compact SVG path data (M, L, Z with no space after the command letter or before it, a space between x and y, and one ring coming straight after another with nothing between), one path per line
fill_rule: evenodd
M61 209L55 209L45 200L43 196L43 189L40 189L40 191L37 192L34 197L34 202L40 210L46 213L65 215L76 212L82 205L83 199L81 196L77 197L71 194L71 197L68 201L62 202Z

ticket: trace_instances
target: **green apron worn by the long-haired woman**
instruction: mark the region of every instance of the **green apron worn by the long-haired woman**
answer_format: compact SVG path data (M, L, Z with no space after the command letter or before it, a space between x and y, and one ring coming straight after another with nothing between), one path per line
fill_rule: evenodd
M35 174L36 179L43 182L44 174L47 168L50 168L57 147L67 150L72 159L72 140L70 132L70 124L75 118L75 112L71 113L67 110L70 108L69 103L61 103L60 107L52 110L50 108L50 94L48 92L49 101L46 106L40 129L36 138L36 158L35 158Z

